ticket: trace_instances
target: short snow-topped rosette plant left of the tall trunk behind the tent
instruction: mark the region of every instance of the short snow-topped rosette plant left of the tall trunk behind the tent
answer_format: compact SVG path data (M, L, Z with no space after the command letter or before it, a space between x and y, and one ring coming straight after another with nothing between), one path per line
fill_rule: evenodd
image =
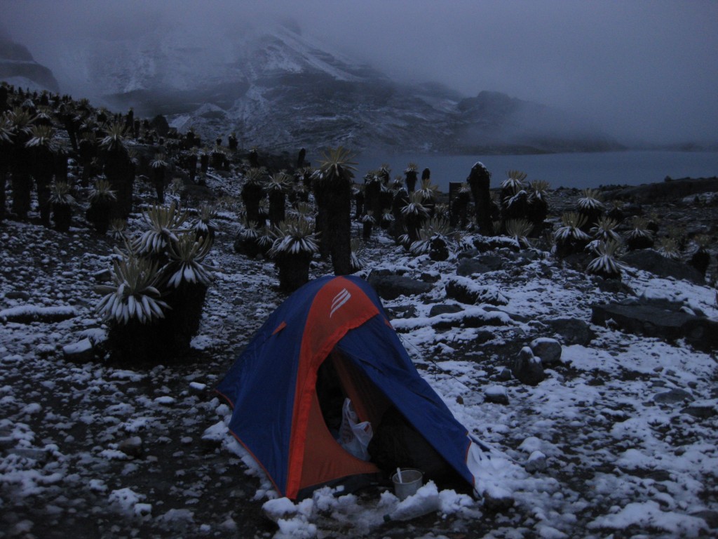
M276 227L274 234L276 239L268 254L279 270L279 289L294 292L309 282L309 264L319 245L304 219L289 218Z

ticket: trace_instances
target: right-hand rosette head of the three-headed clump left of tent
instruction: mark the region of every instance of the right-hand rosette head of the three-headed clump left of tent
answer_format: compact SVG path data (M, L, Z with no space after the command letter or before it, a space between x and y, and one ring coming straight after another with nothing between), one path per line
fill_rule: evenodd
M212 268L202 264L202 260L212 249L212 243L206 237L195 240L193 234L182 234L177 241L172 241L167 249L169 262L160 270L167 279L167 286L179 288L182 283L209 286L214 275Z

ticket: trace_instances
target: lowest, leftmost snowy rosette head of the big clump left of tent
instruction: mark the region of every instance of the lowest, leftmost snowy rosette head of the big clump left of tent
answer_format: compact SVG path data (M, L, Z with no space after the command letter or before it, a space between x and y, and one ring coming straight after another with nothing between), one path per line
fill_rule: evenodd
M96 310L104 321L127 324L131 319L150 323L164 318L164 303L157 288L157 264L139 257L128 247L128 252L115 248L112 280L114 285L98 285L95 290L103 294Z

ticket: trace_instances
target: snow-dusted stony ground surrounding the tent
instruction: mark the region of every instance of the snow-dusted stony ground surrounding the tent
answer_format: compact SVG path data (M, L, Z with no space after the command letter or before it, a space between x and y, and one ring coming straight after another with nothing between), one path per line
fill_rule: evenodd
M457 279L456 258L408 257L381 231L367 245L363 275L383 267L437 279L430 292L385 305L419 372L500 453L486 482L513 507L494 510L432 483L404 502L388 491L330 489L297 504L275 499L228 436L230 410L213 388L283 298L271 262L233 252L233 214L218 222L217 278L196 354L154 367L75 354L78 344L103 338L93 286L115 241L93 236L79 218L69 234L0 224L0 538L717 533L715 354L594 325L590 342L564 342L549 321L589 323L592 303L623 295L601 291L546 253L503 253L502 269L466 277L503 305L432 316L432 306L457 303L445 292ZM130 229L140 227L139 218L131 220ZM329 269L317 262L312 274ZM638 270L628 270L624 282L638 295L718 316L711 287ZM11 321L21 314L22 322ZM480 326L481 319L492 325ZM553 338L561 357L544 365L543 382L529 386L506 375L523 347Z

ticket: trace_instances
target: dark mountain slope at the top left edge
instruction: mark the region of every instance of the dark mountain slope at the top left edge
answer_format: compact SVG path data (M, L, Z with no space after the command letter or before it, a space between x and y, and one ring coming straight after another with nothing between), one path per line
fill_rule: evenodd
M33 91L60 91L49 68L37 63L26 47L4 36L0 36L0 80Z

